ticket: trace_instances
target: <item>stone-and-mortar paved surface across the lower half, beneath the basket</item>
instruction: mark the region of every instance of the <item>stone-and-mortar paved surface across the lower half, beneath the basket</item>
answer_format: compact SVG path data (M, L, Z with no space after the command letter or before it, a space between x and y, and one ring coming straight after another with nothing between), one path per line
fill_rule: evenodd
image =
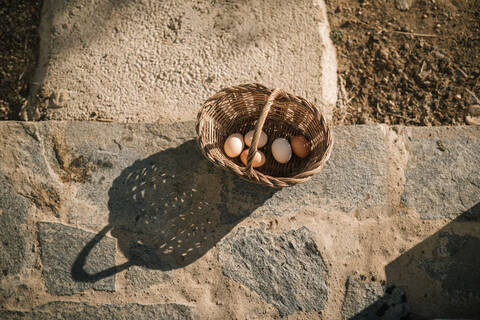
M0 318L479 314L480 129L333 130L275 190L213 167L193 122L0 123Z

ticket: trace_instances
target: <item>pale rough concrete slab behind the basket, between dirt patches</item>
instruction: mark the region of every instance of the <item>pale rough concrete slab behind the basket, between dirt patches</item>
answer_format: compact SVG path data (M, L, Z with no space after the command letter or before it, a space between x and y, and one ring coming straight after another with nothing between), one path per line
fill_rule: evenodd
M251 82L301 95L327 116L336 102L322 0L48 0L40 40L31 105L49 119L192 120L214 92Z

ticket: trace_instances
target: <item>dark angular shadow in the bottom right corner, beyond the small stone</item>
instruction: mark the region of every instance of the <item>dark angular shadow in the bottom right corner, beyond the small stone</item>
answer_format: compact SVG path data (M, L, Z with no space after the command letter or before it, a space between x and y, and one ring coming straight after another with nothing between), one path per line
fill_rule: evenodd
M410 311L427 319L480 315L480 202L385 267L405 288Z

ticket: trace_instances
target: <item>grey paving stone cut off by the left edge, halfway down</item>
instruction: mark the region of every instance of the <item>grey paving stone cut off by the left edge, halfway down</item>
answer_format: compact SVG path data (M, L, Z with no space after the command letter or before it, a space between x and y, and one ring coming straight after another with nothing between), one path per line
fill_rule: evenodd
M26 237L28 206L0 175L0 279L24 267L27 250L33 245Z

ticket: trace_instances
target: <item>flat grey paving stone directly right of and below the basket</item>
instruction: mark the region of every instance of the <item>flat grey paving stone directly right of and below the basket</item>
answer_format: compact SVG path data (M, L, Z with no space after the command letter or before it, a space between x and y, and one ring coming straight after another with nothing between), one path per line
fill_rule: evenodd
M350 211L385 203L385 128L341 126L333 133L332 154L322 171L306 183L276 192L259 208L258 215L295 213L300 207Z

